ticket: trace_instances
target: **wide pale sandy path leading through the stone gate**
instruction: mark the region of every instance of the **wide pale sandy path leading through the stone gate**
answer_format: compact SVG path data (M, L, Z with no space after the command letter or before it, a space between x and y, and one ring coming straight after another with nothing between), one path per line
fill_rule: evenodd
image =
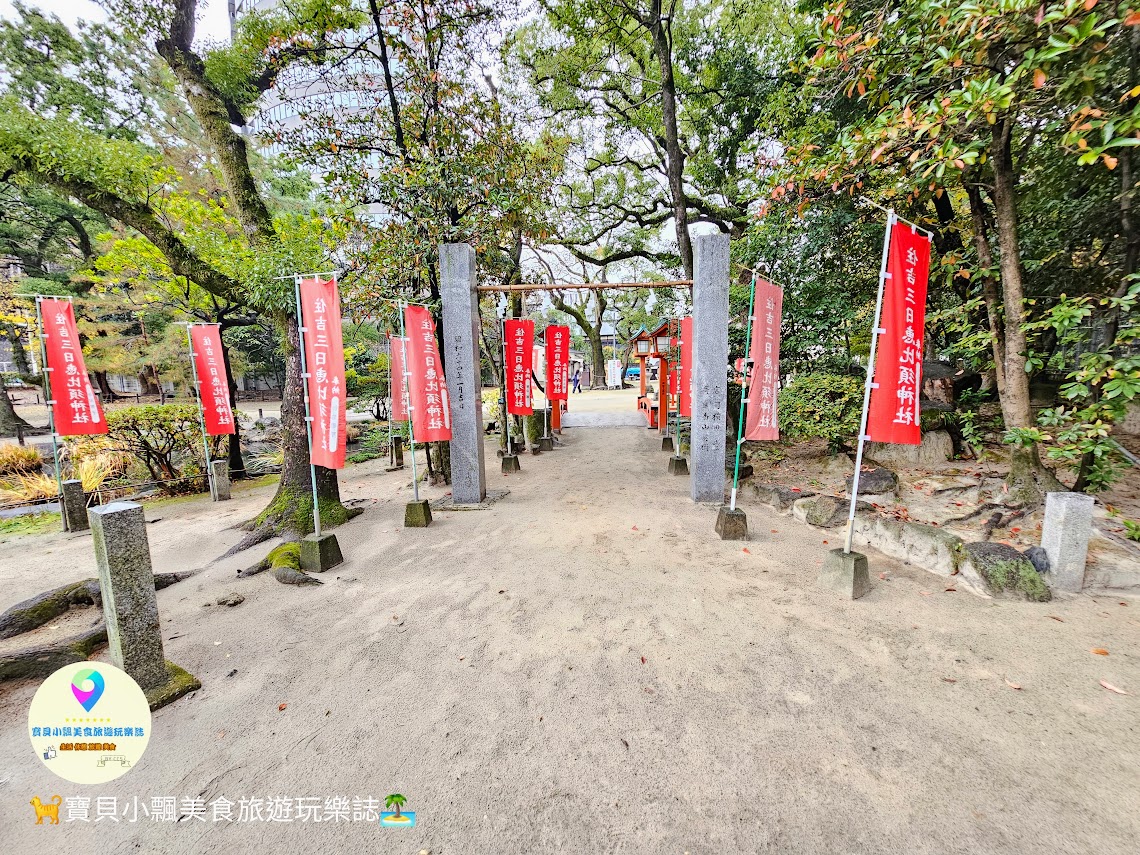
M323 587L235 580L262 549L160 592L168 656L204 689L156 714L144 762L117 782L54 779L25 735L34 685L5 684L5 848L1134 850L1140 604L987 602L883 557L873 573L890 580L840 602L813 585L823 535L748 508L750 554L717 540L715 511L665 474L656 433L565 439L523 457L518 477L490 474L512 491L490 510L438 513L427 530L399 526L406 477L350 470L345 497L377 500L340 530L348 563ZM225 512L241 519L264 496ZM223 552L238 535L213 534L214 513L195 502L155 514L156 570ZM0 545L5 600L90 575L88 553L82 537ZM203 608L229 591L245 603ZM393 791L414 830L35 826L27 804Z

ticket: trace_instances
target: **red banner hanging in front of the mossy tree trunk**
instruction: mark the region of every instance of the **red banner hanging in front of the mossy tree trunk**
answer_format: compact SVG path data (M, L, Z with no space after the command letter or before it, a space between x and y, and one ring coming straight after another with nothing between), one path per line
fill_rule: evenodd
M344 339L335 279L301 282L301 325L312 418L310 459L326 469L344 469Z

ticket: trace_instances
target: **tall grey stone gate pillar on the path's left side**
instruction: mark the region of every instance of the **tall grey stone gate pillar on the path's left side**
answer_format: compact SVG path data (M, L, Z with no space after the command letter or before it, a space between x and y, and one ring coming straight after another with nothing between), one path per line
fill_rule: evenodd
M474 251L467 244L442 244L439 279L443 299L443 363L451 397L451 500L457 505L474 505L487 497Z

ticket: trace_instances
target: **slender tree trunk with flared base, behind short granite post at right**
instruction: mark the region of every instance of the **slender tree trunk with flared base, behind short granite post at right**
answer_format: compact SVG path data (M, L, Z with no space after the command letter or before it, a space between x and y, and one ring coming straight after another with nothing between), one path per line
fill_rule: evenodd
M994 171L994 219L1001 244L1002 308L1004 310L1004 382L999 383L1002 418L1005 429L1034 426L1029 406L1029 375L1025 369L1028 342L1024 324L1025 288L1021 277L1021 247L1018 236L1017 177L1013 170L1012 120L997 122L993 130L991 162ZM1010 471L1005 479L1009 498L1016 504L1037 505L1048 490L1064 490L1064 486L1041 463L1036 445L1011 446Z

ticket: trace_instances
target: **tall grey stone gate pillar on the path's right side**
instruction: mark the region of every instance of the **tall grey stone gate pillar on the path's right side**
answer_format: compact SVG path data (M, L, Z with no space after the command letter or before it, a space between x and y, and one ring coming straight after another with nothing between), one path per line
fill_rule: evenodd
M693 502L724 502L728 396L728 236L701 235L693 255Z

